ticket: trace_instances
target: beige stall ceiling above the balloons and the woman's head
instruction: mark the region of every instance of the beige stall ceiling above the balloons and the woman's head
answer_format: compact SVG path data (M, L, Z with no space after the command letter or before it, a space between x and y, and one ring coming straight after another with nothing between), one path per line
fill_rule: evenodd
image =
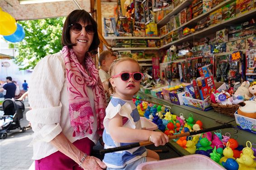
M90 0L76 0L76 2L82 9L90 12ZM19 0L0 0L0 7L13 16L16 21L62 17L79 9L73 0L36 4L19 4Z

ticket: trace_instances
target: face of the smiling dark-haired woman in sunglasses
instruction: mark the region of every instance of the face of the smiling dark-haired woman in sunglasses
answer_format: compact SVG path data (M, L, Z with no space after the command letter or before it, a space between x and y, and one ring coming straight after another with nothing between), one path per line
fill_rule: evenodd
M85 54L89 50L89 47L93 41L93 35L90 35L85 31L85 27L89 24L81 22L78 23L80 23L83 27L81 32L74 33L70 29L71 43L76 43L76 46L73 46L72 49L76 54Z

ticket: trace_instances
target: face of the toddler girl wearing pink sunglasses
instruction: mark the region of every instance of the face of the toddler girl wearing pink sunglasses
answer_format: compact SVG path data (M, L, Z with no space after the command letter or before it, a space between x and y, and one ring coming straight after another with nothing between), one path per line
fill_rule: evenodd
M139 72L140 68L139 65L133 61L122 61L118 63L114 68L114 75L128 72L128 73L135 73ZM123 100L132 100L133 95L136 94L140 88L140 82L137 82L133 79L133 76L130 76L128 81L123 81L121 77L110 78L109 82L112 84L113 88L115 89L114 96L119 97Z

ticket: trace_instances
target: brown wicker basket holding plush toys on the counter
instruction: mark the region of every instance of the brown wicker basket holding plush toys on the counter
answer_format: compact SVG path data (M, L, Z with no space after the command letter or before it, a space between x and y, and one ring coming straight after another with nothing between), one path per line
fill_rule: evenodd
M213 107L214 111L221 113L223 115L227 115L230 117L235 117L234 113L237 111L239 105L221 105L221 104L214 104L211 100L209 100L209 103Z

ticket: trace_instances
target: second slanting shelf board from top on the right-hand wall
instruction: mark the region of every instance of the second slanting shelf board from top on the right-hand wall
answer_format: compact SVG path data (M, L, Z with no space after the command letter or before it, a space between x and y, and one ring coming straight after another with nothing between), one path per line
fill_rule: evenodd
M195 25L198 21L200 21L201 19L203 19L204 17L206 17L208 14L212 13L213 11L215 10L218 10L220 8L222 8L223 6L229 4L230 2L232 2L233 0L226 0L226 1L223 1L222 3L220 3L219 5L215 6L213 9L210 9L208 12L206 13L203 13L193 19L191 19L190 21L180 25L180 27L176 28L176 29L173 29L172 31L176 31L180 28L185 28L185 27L188 27L190 25ZM161 36L161 38L165 37L166 35L168 35L170 32L168 32L167 34Z

